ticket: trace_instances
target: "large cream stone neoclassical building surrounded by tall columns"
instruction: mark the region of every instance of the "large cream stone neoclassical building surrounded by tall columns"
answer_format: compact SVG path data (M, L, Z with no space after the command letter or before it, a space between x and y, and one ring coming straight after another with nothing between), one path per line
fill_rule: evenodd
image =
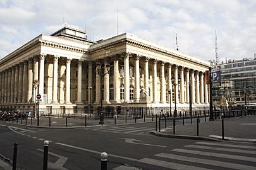
M64 26L0 60L0 107L34 108L37 94L40 108L51 110L97 107L101 98L104 106L169 106L174 98L188 106L189 83L193 106L206 106L209 66L129 33L92 42L85 31Z

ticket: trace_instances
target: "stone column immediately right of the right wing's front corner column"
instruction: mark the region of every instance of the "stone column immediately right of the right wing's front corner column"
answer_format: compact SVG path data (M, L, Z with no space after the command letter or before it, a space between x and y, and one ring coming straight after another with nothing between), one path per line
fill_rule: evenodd
M135 102L140 101L140 55L135 55Z

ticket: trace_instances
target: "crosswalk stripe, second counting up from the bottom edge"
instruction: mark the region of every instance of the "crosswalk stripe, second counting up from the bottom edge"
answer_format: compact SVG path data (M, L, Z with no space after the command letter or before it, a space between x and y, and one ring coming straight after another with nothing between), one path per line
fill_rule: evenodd
M210 159L200 159L196 157L179 156L179 155L165 154L165 153L157 154L155 156L165 157L168 159L176 159L180 161L196 162L196 163L207 164L212 166L228 167L231 169L255 170L255 167L253 166L246 166L246 165L234 164L234 163L222 162L222 161L214 161Z

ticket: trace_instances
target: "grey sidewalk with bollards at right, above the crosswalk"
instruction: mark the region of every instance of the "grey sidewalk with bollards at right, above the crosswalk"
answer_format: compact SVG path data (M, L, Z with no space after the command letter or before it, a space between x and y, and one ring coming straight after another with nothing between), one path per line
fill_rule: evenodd
M150 133L161 137L222 141L222 121L215 120L198 123L198 136L196 122L177 125L175 127L175 135L173 135L173 127L162 129L161 132L152 131ZM256 143L256 116L225 118L224 140Z

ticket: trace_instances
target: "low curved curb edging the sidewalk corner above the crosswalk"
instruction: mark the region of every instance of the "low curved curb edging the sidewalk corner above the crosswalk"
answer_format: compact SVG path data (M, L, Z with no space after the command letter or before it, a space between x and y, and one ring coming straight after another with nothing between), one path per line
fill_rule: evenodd
M228 141L228 140L214 139L211 137L201 137L201 136L192 136L192 135L171 135L171 134L155 132L155 131L150 131L149 133L158 137L168 137L168 138L176 138L176 139L208 140L208 141L217 141L217 142Z

